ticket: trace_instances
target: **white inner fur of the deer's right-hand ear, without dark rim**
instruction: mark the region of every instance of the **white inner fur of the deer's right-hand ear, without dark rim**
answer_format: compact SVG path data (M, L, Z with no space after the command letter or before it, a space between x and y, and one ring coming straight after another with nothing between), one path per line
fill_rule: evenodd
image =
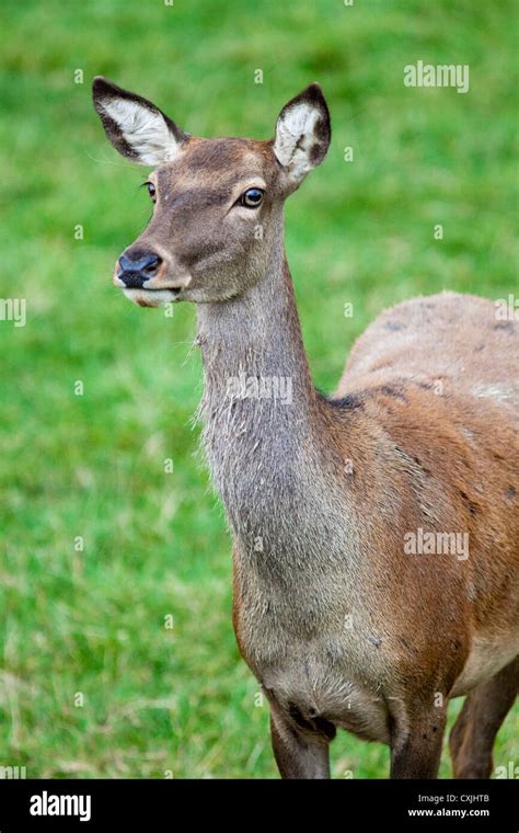
M301 180L314 166L310 149L318 141L314 127L322 114L311 104L295 104L279 116L276 124L274 152L296 180Z

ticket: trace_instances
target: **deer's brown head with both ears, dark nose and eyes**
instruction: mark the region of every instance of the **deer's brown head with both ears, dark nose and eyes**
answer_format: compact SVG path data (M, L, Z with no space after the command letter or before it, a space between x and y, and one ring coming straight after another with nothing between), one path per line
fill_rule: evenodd
M274 139L203 139L147 99L97 77L93 101L112 145L154 170L153 216L118 259L114 284L143 307L224 301L265 274L282 204L324 158L330 114L319 84L288 102Z

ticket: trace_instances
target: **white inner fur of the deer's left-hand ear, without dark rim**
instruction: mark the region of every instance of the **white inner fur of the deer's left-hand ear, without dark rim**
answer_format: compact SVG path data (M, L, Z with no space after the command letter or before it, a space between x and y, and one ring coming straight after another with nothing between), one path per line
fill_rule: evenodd
M102 106L119 126L141 164L160 164L180 153L180 145L160 113L127 99L104 99Z

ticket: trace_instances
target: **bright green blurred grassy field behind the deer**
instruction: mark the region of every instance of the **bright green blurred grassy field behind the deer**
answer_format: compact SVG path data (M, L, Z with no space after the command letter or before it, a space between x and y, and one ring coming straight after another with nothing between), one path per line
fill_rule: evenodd
M191 423L195 310L165 318L111 284L150 209L143 169L104 138L91 78L151 98L192 133L255 138L321 82L333 142L289 201L287 248L315 383L330 390L384 307L443 288L517 293L514 3L3 0L0 14L0 297L27 303L25 327L0 321L0 764L33 777L276 777ZM470 65L470 91L405 88L418 59ZM517 718L496 765L519 758ZM345 734L333 746L335 777L385 777L388 760Z

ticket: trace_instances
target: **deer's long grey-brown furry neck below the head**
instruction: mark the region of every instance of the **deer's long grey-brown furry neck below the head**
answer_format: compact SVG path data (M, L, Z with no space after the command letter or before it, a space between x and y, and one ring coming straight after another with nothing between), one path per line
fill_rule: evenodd
M308 497L323 442L282 230L257 283L239 298L198 305L197 313L212 479L239 540L279 543Z

